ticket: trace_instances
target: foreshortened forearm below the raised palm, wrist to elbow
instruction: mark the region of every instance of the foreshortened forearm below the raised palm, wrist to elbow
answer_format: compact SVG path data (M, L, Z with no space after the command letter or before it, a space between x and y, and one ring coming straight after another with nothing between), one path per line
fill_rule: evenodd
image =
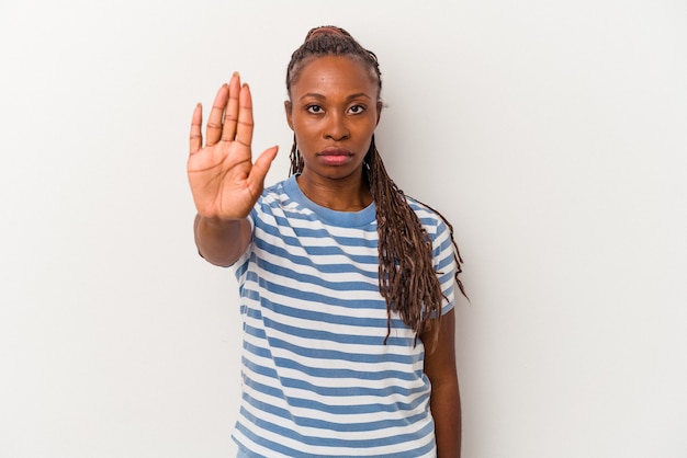
M247 219L219 221L196 215L193 232L200 255L221 266L234 264L250 242Z

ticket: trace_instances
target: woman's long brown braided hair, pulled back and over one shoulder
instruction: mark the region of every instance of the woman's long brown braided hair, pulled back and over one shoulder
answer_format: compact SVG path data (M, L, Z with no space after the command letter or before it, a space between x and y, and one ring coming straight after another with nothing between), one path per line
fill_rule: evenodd
M376 81L378 100L381 100L382 73L376 56L363 48L347 31L331 25L312 28L303 45L292 54L286 70L289 94L303 68L324 56L346 56L361 62ZM295 135L290 159L290 174L301 173L305 163L299 152ZM386 301L387 311L387 334L384 343L391 334L392 312L398 313L403 322L415 331L416 342L425 331L435 331L436 342L444 296L432 263L431 239L408 205L409 197L386 173L374 145L374 135L364 158L364 165L363 179L368 181L376 208L380 293ZM454 247L455 280L465 296L463 285L458 278L463 260L453 238L453 227L439 211L423 205L437 213L449 228Z

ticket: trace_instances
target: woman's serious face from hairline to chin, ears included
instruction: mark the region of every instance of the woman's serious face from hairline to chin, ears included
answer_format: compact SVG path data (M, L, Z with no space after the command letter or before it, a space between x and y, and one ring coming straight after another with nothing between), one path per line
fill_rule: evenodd
M381 103L378 84L363 64L342 56L306 64L286 101L306 180L362 178Z

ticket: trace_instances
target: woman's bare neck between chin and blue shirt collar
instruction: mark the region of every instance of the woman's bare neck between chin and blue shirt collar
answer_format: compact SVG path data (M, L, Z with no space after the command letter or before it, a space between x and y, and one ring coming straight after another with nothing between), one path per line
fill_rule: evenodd
M316 179L305 169L296 182L303 194L322 207L335 211L359 211L372 203L372 194L362 173L357 175L357 179Z

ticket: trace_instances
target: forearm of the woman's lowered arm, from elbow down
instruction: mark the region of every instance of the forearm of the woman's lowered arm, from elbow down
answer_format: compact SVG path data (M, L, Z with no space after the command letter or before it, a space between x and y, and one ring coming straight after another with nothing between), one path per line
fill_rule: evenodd
M430 403L435 419L437 457L459 458L462 434L458 381L432 387Z

